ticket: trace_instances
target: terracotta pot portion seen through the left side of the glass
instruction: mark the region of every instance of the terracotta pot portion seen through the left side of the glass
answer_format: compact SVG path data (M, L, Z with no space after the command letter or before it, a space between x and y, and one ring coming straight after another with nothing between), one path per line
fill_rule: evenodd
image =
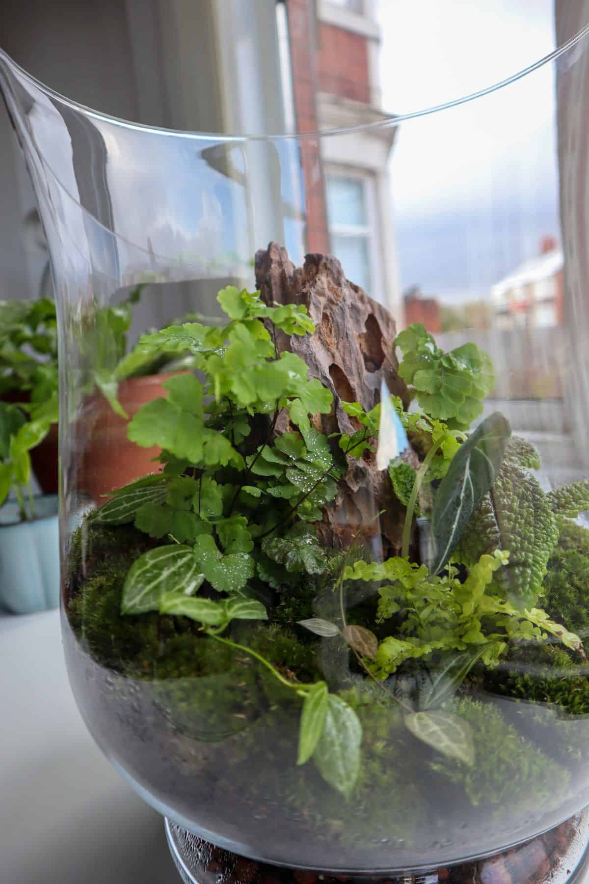
M133 377L118 385L118 400L129 419L141 406L165 396L163 383L182 372ZM117 415L102 393L88 396L78 420L76 461L79 473L76 485L101 506L104 494L139 479L147 473L159 473L162 464L152 462L160 453L157 446L141 448L127 438L128 421Z

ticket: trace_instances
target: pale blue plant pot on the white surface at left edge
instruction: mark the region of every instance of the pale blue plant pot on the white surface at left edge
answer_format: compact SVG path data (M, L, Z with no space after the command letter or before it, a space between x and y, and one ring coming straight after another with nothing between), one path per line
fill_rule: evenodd
M0 606L12 613L59 605L57 503L57 494L35 497L30 522L20 522L15 501L0 508Z

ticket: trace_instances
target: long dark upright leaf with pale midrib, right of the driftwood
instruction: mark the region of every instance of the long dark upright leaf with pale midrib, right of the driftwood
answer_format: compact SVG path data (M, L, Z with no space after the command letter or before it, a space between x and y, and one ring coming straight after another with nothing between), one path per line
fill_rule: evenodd
M510 434L510 423L494 412L455 454L438 488L432 511L431 574L437 574L449 560L466 523L495 482Z

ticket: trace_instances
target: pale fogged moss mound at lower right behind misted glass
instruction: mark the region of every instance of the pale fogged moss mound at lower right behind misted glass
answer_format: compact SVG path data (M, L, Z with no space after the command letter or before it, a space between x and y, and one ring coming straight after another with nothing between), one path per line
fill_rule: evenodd
M473 805L491 804L498 811L555 806L562 800L570 774L554 759L525 740L489 703L464 698L451 711L466 720L476 750L474 766L436 758L431 768L461 786Z

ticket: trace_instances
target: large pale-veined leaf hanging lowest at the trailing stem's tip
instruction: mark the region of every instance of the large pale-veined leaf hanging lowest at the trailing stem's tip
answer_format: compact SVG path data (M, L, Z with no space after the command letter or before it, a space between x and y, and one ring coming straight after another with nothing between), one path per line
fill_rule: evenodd
M313 761L323 779L351 796L360 771L362 726L354 710L341 697L328 694L328 707Z

